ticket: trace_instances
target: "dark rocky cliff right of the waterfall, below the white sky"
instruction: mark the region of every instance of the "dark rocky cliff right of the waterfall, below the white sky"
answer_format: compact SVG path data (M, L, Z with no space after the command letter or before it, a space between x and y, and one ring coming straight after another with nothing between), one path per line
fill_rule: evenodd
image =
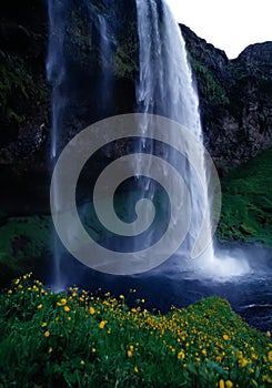
M272 145L272 42L236 59L181 25L198 81L206 146L220 166L240 164Z

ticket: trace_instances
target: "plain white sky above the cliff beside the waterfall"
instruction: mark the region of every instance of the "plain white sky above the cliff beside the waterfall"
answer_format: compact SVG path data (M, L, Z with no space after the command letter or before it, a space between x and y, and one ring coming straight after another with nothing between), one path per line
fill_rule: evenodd
M236 58L252 43L272 40L271 0L167 0L178 22Z

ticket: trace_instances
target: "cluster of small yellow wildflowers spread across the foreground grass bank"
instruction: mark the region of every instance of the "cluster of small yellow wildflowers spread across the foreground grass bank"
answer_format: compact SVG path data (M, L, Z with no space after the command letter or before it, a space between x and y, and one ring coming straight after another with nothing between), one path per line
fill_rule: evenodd
M271 341L270 331L260 340L265 346L255 345L255 334L224 300L211 298L206 304L203 302L203 308L200 302L197 307L172 307L168 315L153 315L143 308L144 299L138 299L138 305L129 308L123 295L115 298L107 293L104 297L99 297L72 287L68 294L56 296L37 280L23 288L22 278L16 279L14 286L8 292L9 300L16 293L22 297L22 292L30 295L29 300L34 300L39 333L48 354L56 349L56 355L58 340L69 339L79 321L83 323L84 330L87 327L88 333L92 334L88 356L82 354L82 359L77 358L77 366L88 365L88 357L92 361L102 357L101 354L104 354L104 359L108 359L108 354L109 358L112 357L110 350L113 344L114 351L120 351L123 363L129 365L127 369L139 374L133 375L135 379L144 376L144 368L152 359L162 357L187 374L201 370L208 380L212 366L216 366L214 380L209 385L213 387L238 387L239 376L251 376L250 386L258 387L260 380L264 386L272 382L272 345L268 345ZM46 298L47 295L49 298ZM124 343L115 346L122 335ZM44 337L50 338L46 340ZM152 347L158 348L159 356L154 357L155 349Z

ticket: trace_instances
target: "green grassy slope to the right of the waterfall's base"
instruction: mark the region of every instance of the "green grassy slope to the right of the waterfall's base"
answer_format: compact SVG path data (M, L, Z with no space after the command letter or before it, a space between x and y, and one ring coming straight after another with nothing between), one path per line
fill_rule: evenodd
M221 180L221 242L260 242L272 246L272 150L266 150Z

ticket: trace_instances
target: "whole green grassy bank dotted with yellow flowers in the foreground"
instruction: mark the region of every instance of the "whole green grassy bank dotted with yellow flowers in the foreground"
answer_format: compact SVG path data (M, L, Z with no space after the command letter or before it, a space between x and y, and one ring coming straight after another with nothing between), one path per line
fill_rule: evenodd
M16 279L0 295L0 387L272 384L270 333L250 328L226 300L153 315L144 300L129 308L124 299Z

